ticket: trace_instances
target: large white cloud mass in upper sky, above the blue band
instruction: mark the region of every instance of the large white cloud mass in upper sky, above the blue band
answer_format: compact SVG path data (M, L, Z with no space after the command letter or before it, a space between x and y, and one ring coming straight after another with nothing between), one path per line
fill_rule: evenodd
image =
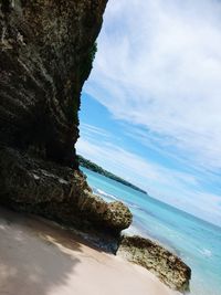
M158 145L221 169L221 3L109 1L86 91Z

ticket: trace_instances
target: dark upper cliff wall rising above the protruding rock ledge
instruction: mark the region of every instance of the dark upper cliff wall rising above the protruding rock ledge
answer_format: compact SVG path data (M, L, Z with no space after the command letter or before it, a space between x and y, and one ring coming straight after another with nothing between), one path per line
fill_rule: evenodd
M80 93L106 2L0 1L0 143L77 166Z

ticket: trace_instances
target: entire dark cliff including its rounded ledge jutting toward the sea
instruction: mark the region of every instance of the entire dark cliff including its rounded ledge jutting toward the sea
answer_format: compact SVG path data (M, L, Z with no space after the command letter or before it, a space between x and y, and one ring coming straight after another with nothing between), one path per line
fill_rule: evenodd
M131 213L92 194L74 149L106 2L0 1L0 203L118 234Z

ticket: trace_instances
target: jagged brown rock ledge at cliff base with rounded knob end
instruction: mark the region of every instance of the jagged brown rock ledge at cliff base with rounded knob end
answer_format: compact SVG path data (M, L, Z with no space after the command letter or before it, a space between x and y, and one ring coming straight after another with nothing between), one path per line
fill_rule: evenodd
M126 206L93 194L85 177L69 167L0 148L0 202L17 210L113 234L131 223Z

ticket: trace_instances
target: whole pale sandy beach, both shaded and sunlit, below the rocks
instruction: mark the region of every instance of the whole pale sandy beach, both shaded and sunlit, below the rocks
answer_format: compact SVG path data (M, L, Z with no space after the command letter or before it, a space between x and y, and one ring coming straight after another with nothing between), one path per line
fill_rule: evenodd
M0 295L173 295L51 222L0 208Z

